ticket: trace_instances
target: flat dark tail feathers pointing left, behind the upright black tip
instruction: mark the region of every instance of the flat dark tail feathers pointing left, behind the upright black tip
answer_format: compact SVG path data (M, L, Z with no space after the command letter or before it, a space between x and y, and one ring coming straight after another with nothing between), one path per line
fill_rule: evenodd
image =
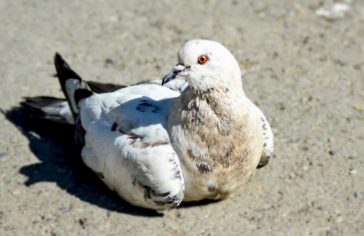
M61 114L61 110L68 106L66 99L53 97L34 97L24 99L26 101L20 103L22 106L20 110L24 114L27 114L31 117L47 119L63 124L71 122L69 112Z

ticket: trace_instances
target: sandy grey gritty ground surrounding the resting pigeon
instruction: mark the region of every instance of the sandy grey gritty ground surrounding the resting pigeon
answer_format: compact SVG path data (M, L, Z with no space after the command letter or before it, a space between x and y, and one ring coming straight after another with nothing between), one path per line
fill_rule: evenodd
M0 0L0 235L363 235L364 2ZM56 51L84 79L161 79L189 39L221 42L264 112L275 154L232 197L128 205L80 161L72 128L16 108L61 97Z

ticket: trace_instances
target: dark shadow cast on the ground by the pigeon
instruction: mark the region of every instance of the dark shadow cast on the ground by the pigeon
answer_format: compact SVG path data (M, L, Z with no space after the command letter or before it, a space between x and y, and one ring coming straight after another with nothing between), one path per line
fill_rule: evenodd
M28 177L24 182L26 186L38 182L56 182L68 193L109 211L146 217L164 215L163 211L133 206L110 191L83 163L74 142L74 125L29 117L19 107L13 107L9 111L1 110L1 113L28 138L30 150L40 161L20 168L19 172ZM213 202L217 201L182 202L179 207L189 208Z

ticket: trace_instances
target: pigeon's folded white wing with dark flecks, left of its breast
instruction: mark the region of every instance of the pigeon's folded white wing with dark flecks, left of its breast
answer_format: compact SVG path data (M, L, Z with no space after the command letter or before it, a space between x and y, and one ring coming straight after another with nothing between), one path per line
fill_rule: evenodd
M133 205L159 209L183 199L182 170L166 128L179 94L140 84L79 102L86 130L83 161Z

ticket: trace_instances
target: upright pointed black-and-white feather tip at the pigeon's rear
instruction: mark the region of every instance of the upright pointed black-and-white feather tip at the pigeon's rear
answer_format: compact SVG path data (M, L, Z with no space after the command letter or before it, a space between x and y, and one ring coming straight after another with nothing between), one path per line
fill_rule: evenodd
M66 96L72 115L76 121L79 113L78 102L82 98L91 96L92 91L87 86L87 83L71 69L58 52L56 52L56 55L54 56L54 64L62 91Z

